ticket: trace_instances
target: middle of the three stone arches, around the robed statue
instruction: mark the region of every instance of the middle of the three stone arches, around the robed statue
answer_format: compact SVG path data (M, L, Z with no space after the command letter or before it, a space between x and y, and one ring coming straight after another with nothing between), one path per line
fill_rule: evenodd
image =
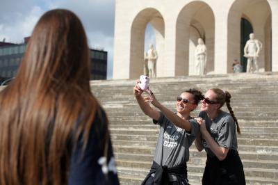
M207 3L193 1L177 18L175 76L195 74L195 48L202 38L207 49L206 73L214 70L215 17Z

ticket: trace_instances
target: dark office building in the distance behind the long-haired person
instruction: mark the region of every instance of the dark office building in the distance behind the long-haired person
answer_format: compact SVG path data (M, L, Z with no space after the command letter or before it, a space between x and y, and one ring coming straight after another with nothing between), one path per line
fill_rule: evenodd
M15 77L29 38L23 44L0 42L0 83ZM107 51L90 49L90 79L106 79Z

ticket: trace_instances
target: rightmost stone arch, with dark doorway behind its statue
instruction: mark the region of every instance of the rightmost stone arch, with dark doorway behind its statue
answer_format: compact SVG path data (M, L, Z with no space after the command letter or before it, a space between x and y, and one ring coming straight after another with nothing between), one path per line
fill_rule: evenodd
M259 72L270 70L272 49L271 10L268 1L234 1L229 10L227 26L227 72L231 72L231 63L234 58L241 58L243 65L245 65L246 58L243 58L243 48L246 41L249 40L247 33L251 30L250 26L252 26L255 39L263 43L263 49L260 51L259 58L257 59ZM247 38L245 38L246 36Z

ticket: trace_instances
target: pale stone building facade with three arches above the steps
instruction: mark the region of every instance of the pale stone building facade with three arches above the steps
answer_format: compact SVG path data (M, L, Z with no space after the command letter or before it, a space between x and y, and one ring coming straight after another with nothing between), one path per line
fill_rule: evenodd
M147 24L156 38L157 77L195 74L198 38L207 48L206 74L232 72L234 58L245 70L243 48L250 33L263 43L259 72L276 72L277 10L277 0L116 0L113 79L134 79L143 73Z

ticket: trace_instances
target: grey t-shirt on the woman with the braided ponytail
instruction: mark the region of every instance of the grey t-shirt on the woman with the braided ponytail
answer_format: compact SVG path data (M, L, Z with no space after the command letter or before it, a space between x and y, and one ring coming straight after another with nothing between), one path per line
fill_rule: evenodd
M208 118L206 112L203 111L199 113L199 117L205 120L208 133L211 134L211 137L216 143L218 143L218 145L231 148L232 150L238 150L236 123L229 113L220 111L218 116L211 120ZM215 156L204 138L202 138L202 145L208 156Z

